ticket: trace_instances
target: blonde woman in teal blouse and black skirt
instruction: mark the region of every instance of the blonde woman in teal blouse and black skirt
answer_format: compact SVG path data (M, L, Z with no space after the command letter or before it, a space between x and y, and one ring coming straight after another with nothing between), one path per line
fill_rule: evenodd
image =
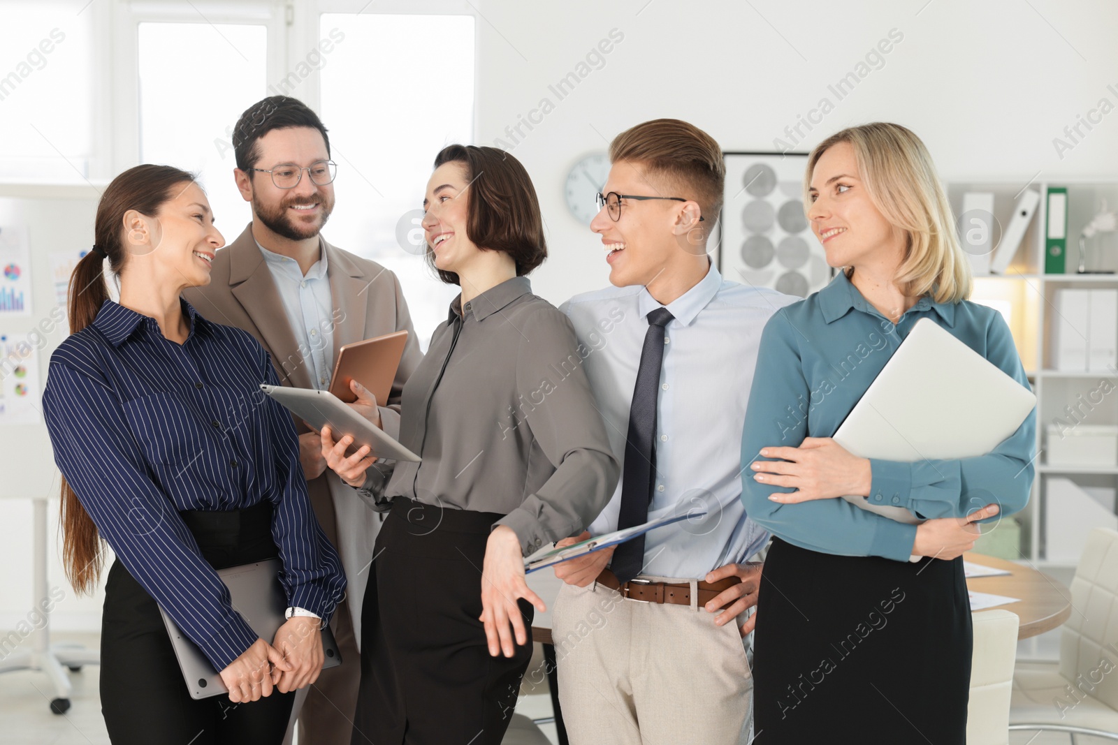
M742 499L774 534L758 600L756 732L778 743L836 733L964 743L972 638L960 556L978 522L1029 499L1035 411L993 452L961 460L859 458L831 436L920 318L1029 382L1001 315L966 299L969 266L912 132L875 123L826 139L808 159L805 209L842 271L769 321L746 412ZM897 523L843 495L930 519Z

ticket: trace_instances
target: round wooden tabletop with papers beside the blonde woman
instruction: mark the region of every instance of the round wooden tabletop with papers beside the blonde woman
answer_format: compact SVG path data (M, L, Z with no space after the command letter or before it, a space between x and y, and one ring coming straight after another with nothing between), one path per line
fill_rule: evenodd
M1021 618L1017 639L1027 639L1051 631L1071 615L1071 590L1048 574L1027 564L1017 564L1004 558L968 553L963 558L975 564L1007 570L1006 576L969 577L967 588L975 592L991 592L995 595L1020 598L1021 602L998 605L999 609L1016 613Z

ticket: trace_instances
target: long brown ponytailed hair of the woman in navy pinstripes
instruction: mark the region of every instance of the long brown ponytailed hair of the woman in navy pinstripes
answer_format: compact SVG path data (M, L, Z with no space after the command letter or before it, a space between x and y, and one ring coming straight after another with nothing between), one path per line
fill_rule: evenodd
M154 217L176 193L176 187L195 176L171 165L138 165L113 179L97 204L93 249L82 257L67 289L70 333L93 324L108 299L104 262L114 276L124 268L124 213L136 210ZM85 512L77 494L63 477L59 518L63 532L63 566L75 592L92 593L105 562L104 541Z

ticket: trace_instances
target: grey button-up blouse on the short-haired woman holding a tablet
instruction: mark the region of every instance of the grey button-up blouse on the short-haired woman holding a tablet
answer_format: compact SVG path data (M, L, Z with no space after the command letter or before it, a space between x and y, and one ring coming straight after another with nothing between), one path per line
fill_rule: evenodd
M500 513L525 555L581 533L620 475L584 351L527 277L455 298L404 388L399 439L423 462L377 461L358 494Z

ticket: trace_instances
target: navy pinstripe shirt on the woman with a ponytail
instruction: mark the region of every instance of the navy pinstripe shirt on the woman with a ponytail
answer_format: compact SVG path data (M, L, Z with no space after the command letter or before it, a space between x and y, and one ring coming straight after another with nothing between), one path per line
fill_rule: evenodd
M345 576L311 512L291 414L247 332L206 321L190 334L105 300L50 356L42 411L55 462L116 556L221 670L256 641L179 510L274 505L290 605L329 620ZM267 640L271 641L271 640Z

